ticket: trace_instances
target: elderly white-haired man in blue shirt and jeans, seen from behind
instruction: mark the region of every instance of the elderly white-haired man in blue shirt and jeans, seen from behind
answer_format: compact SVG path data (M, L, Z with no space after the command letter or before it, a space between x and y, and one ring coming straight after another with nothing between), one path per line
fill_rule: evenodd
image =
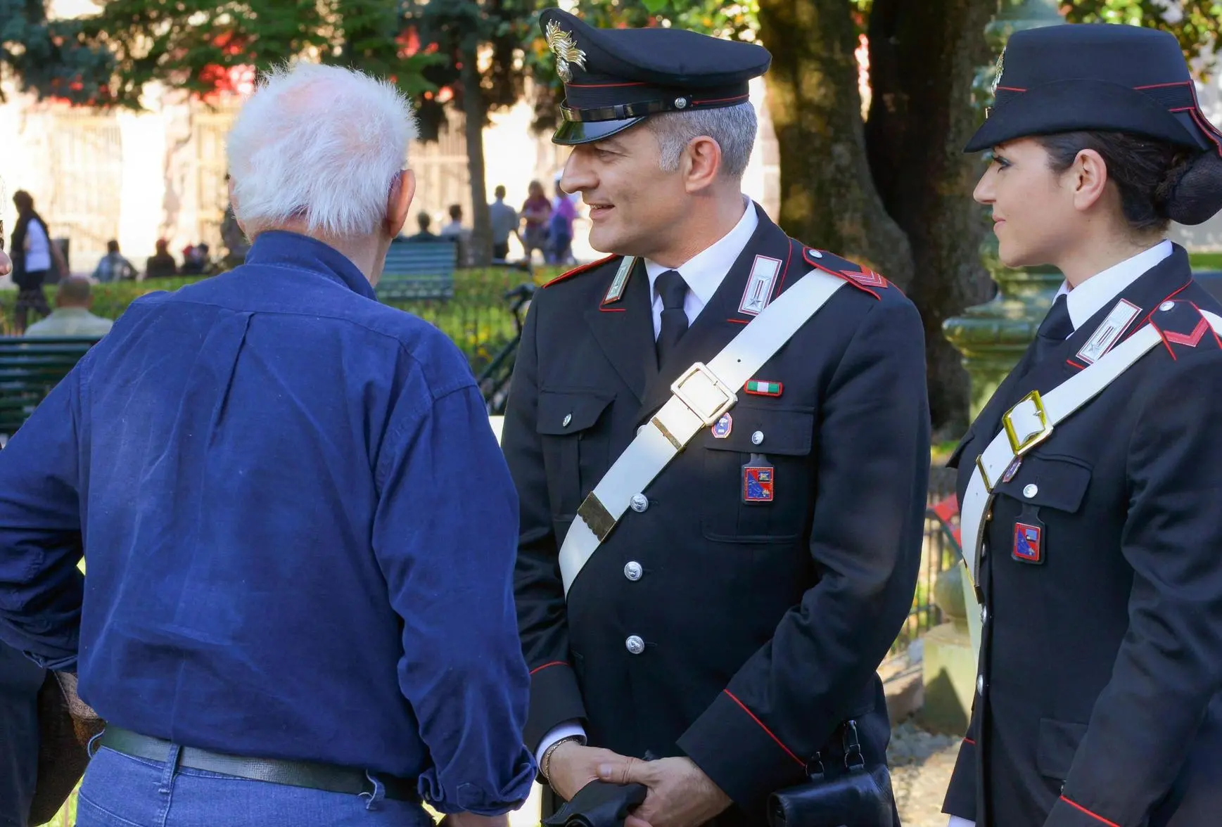
M513 484L463 355L374 297L413 134L386 83L271 72L229 143L246 264L134 302L4 451L0 639L108 722L81 827L529 793Z

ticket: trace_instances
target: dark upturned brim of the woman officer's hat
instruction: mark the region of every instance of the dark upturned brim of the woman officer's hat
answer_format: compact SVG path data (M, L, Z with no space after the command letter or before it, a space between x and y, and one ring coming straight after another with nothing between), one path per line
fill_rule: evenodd
M1128 132L1185 147L1200 140L1152 98L1118 83L1057 81L993 107L963 148L979 153L997 144L1039 134L1077 131Z

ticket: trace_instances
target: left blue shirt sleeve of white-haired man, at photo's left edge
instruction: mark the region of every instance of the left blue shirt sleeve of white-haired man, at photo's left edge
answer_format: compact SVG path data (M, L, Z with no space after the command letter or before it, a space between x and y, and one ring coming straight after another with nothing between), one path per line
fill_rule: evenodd
M84 577L78 489L81 364L0 451L0 639L75 671Z

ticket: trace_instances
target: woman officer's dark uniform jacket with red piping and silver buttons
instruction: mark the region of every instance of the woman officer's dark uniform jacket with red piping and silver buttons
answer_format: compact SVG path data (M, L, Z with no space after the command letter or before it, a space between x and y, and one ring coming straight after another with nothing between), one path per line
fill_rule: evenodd
M1222 823L1222 347L1201 315L1222 307L1163 246L1067 340L1031 346L952 459L962 501L1002 415L1097 359L1113 311L1132 316L1116 341L1162 333L996 489L945 806L978 827ZM1123 283L1124 266L1095 279Z

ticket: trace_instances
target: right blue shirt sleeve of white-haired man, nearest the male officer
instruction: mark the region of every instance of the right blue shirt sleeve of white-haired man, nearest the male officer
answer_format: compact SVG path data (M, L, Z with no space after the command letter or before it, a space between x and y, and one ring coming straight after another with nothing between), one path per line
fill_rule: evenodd
M401 402L378 464L374 553L403 618L398 680L442 812L499 815L530 792L529 678L513 606L517 495L472 385Z

